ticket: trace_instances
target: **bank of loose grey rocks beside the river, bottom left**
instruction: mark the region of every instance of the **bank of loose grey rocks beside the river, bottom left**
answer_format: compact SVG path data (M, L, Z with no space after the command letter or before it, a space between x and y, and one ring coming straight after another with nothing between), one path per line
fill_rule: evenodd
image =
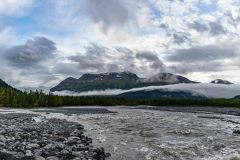
M1 160L105 160L81 124L34 114L0 116Z

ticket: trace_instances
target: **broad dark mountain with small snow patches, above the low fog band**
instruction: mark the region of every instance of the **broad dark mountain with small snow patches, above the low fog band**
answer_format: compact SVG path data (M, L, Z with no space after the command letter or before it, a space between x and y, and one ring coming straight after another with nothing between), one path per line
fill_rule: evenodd
M83 74L79 79L69 77L51 89L55 91L85 92L106 89L132 89L146 86L159 86L178 83L196 83L189 79L170 74L159 73L150 78L139 78L131 72L110 72L101 74Z

